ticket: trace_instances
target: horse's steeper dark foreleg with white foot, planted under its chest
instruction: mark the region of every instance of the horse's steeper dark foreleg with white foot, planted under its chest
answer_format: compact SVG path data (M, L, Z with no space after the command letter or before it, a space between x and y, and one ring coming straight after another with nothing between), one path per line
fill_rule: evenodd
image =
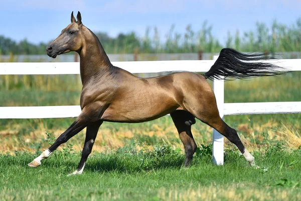
M83 173L87 158L90 155L90 153L92 152L92 147L95 142L98 129L99 129L100 125L102 124L102 122L103 121L98 121L94 124L87 126L86 139L85 139L85 144L84 144L83 151L82 151L82 157L80 159L77 169L69 175Z

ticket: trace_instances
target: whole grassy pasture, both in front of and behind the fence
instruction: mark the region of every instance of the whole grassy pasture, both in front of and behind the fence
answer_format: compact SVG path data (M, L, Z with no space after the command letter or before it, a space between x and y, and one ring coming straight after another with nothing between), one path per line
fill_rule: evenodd
M31 77L21 76L20 83L12 81L8 89L2 87L1 106L78 105L80 84L73 75L38 75L35 79L40 84L34 86L28 78ZM7 80L14 80L14 76L9 75ZM291 72L228 81L225 103L301 101L299 80L301 73ZM224 119L237 129L259 169L250 168L228 141L225 141L225 165L213 165L212 129L200 121L192 127L200 149L192 166L183 168L183 145L171 118L163 117L141 124L104 123L83 175L67 177L80 160L84 132L61 146L40 167L33 169L27 164L74 119L0 120L0 197L4 200L299 200L301 114Z

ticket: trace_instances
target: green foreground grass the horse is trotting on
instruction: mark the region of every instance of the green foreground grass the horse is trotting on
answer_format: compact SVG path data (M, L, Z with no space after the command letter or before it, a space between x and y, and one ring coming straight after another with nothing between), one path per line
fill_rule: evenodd
M249 167L232 147L225 165L211 162L211 146L198 150L193 164L183 168L184 154L170 146L153 151L134 145L88 158L82 175L75 170L80 153L56 151L38 168L27 164L36 154L0 155L2 200L300 200L301 149L281 144L255 152Z

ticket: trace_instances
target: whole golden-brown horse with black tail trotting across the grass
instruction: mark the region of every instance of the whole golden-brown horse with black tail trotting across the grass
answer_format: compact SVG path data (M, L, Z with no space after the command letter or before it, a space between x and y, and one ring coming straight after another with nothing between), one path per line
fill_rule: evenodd
M81 174L103 122L141 123L170 114L185 150L187 167L197 149L191 126L199 119L234 143L251 166L254 157L244 147L237 132L219 116L214 92L207 79L235 79L281 74L280 67L262 62L265 53L244 54L224 48L205 74L177 72L152 78L140 78L113 66L97 36L71 13L71 24L47 46L47 55L75 51L80 56L81 114L73 124L40 156L28 165L37 167L61 144L86 129L81 160L71 174ZM143 66L141 66L143 68Z

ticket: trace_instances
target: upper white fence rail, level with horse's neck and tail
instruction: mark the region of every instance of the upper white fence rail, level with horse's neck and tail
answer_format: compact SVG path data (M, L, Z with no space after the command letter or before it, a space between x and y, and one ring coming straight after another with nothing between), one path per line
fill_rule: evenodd
M286 67L287 71L301 71L301 59L282 59L266 61ZM207 72L214 60L188 60L188 61L116 61L113 65L123 68L131 73L156 72ZM57 75L80 74L79 62L66 63L0 63L0 75Z

